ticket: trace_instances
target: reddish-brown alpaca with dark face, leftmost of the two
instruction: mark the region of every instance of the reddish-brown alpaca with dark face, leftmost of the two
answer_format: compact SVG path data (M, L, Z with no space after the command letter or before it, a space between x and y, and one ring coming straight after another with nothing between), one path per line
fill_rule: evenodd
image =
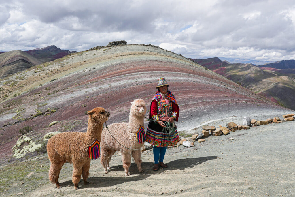
M94 108L88 111L87 132L64 132L51 137L47 143L47 154L50 159L49 180L61 188L58 182L59 173L63 164L68 161L73 163L72 181L75 189L83 177L84 184L88 184L90 158L88 147L95 141L101 140L103 124L108 120L109 112L104 108Z

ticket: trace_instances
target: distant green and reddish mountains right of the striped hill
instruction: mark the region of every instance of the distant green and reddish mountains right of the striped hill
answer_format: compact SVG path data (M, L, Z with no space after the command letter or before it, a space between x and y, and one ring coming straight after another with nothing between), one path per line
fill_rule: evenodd
M273 102L295 110L295 60L261 66L229 64L217 57L192 60Z

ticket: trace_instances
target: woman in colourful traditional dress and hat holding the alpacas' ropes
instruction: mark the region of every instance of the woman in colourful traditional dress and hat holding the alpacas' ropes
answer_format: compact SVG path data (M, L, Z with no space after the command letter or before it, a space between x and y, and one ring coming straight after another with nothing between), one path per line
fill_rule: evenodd
M163 163L167 146L174 146L179 141L177 128L174 121L178 121L179 107L175 100L174 95L168 90L169 84L164 77L158 79L158 92L153 96L150 105L150 121L148 124L146 136L147 142L154 145L154 171L159 170L161 167L168 167ZM175 126L175 132L169 133L168 128L165 126L170 122ZM164 130L163 130L164 128Z

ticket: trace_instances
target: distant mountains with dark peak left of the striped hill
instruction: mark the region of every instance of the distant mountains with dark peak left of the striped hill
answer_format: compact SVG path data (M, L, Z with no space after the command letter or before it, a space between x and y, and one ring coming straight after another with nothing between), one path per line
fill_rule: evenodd
M0 52L0 78L17 73L31 66L53 61L76 51L68 51L57 48L54 45L44 48L36 48L30 51Z

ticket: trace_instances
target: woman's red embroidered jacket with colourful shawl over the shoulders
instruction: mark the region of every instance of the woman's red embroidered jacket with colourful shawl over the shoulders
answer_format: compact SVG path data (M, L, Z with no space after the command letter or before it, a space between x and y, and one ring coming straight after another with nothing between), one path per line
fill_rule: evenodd
M169 90L165 96L156 92L150 105L150 118L167 121L171 116L178 121L179 107L174 95Z

